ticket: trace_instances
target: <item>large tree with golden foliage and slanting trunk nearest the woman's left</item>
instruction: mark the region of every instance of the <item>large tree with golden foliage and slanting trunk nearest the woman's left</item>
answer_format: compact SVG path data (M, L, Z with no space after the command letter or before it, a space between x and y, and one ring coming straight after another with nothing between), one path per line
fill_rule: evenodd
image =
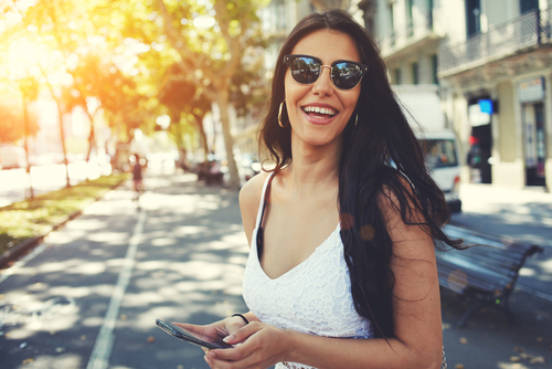
M226 158L233 188L240 186L233 154L229 107L232 78L245 68L248 48L263 46L257 10L267 0L112 1L126 11L124 32L144 44L167 48L166 53L191 76L201 95L220 108Z

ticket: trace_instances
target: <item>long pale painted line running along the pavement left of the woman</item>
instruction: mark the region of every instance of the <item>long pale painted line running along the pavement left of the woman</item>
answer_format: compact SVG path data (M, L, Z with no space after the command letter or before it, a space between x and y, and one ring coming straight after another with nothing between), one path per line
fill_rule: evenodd
M138 244L140 243L145 220L146 211L141 211L128 245L127 255L123 263L117 285L115 286L112 299L109 301L109 307L107 308L104 321L99 328L99 334L96 338L96 344L92 350L91 359L88 360L86 369L106 369L109 365L109 357L112 356L113 342L115 339L113 331L115 329L115 324L117 323L117 316L119 315L120 304L125 297L125 291L130 282L130 277L132 276L132 268L136 263L136 251L138 249Z

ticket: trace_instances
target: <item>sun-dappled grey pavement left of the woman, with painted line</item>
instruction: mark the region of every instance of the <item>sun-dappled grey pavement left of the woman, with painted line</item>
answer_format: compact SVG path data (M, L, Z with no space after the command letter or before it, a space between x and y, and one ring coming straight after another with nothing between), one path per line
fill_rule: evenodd
M200 348L155 324L245 310L237 193L195 183L147 178L138 202L112 191L6 271L1 367L208 368Z

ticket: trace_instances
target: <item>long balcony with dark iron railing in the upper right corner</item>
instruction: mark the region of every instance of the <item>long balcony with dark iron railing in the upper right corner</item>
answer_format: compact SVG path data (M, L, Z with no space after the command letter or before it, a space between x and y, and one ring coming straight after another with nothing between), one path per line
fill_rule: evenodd
M543 44L550 44L552 7L532 10L486 33L478 33L465 43L443 46L438 52L438 75L447 77L489 62L501 60Z

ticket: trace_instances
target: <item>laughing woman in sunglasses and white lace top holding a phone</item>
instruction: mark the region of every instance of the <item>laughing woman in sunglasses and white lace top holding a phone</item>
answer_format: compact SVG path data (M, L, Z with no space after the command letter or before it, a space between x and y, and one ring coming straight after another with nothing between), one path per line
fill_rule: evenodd
M183 326L236 345L211 368L438 368L434 242L457 243L374 43L346 12L310 14L272 89L276 168L240 193L251 312Z

